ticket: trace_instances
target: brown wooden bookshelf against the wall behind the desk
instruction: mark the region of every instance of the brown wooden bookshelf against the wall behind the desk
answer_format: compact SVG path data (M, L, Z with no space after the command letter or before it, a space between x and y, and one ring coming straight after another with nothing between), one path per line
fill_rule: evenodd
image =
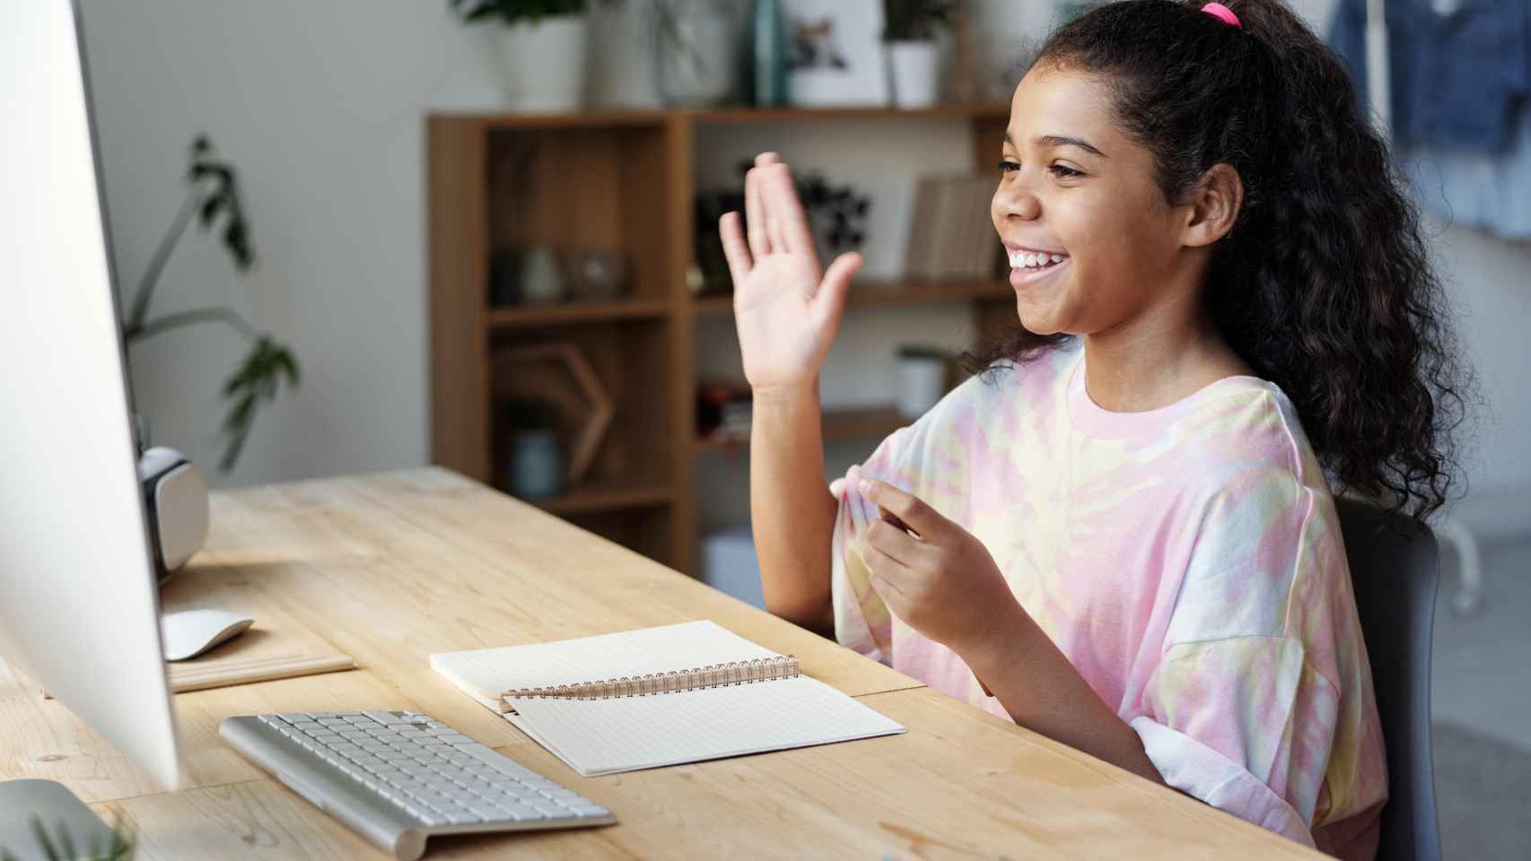
M426 119L432 460L505 488L496 418L505 347L573 343L615 410L588 477L534 505L687 573L697 570L697 456L743 443L697 439L697 320L732 297L694 297L698 127L825 121L961 121L974 165L1000 151L1006 102L926 110L724 107L570 115L433 113ZM491 307L502 248L623 252L632 289L612 301ZM1004 281L857 281L853 307L972 303L978 326L1014 320ZM828 410L827 440L876 443L908 424L891 405Z

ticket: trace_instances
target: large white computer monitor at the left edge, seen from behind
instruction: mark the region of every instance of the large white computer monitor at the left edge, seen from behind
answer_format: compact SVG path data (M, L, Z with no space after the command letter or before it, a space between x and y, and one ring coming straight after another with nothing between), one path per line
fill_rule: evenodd
M173 789L78 9L0 3L0 656Z

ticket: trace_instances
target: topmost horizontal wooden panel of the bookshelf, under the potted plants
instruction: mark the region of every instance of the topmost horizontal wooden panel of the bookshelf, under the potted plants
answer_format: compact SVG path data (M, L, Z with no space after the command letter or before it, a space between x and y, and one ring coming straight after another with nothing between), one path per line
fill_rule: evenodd
M491 113L491 112L433 112L432 119L442 122L467 122L487 128L600 128L614 125L661 125L668 119L686 119L695 124L747 124L747 122L814 122L833 119L991 119L1003 121L1010 115L1010 102L1003 99L937 104L925 109L897 107L772 107L723 106L704 109L641 109L641 110L586 110L577 113Z

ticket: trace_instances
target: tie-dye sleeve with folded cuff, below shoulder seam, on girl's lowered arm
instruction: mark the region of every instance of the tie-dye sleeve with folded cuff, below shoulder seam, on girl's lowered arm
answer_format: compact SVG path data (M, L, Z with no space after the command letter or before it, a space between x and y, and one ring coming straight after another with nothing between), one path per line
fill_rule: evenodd
M1314 846L1340 694L1300 641L1240 636L1170 648L1131 720L1165 783Z

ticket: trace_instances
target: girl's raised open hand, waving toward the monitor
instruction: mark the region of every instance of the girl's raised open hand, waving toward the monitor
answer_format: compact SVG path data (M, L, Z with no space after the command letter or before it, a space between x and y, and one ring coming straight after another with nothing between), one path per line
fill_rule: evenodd
M792 174L775 153L762 153L744 179L749 243L739 214L720 222L733 275L733 320L744 376L756 393L810 385L824 364L845 309L845 291L860 268L842 254L821 275Z

